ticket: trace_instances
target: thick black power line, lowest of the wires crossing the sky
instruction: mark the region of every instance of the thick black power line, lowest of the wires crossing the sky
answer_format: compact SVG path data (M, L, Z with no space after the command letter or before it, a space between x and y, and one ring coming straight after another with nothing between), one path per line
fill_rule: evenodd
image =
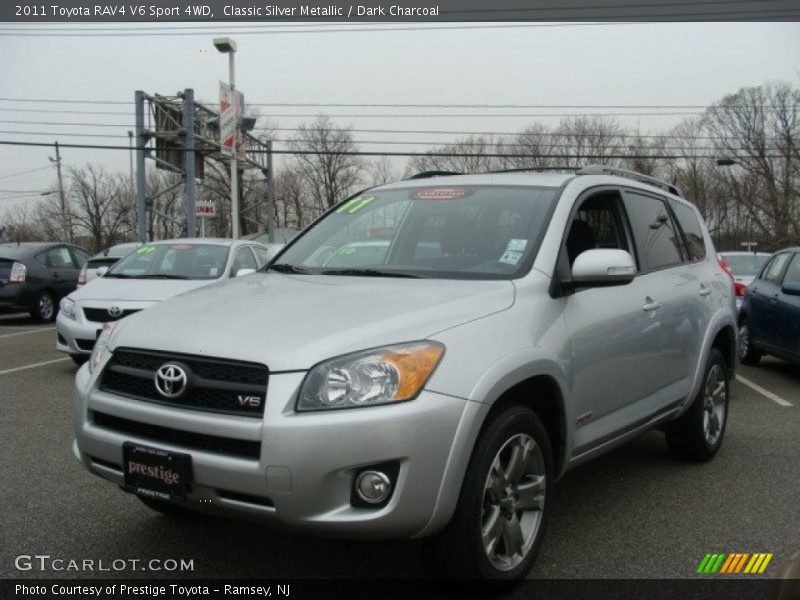
M0 140L0 145L4 146L32 146L32 147L52 147L53 144L46 142L22 142L17 140ZM152 150L149 147L131 147L124 146L106 146L100 144L59 144L62 148L79 148L89 150ZM195 152L202 152L201 149L195 149ZM266 150L252 150L252 154L266 154ZM577 157L585 157L587 160L591 158L602 159L661 159L661 160L683 160L683 159L703 159L713 158L709 155L696 154L596 154L592 152L584 152L580 154L506 154L506 153L486 153L475 154L468 152L371 152L371 151L324 151L324 150L272 150L273 154L288 154L288 155L315 155L315 156L398 156L398 157L429 157L429 158L563 158L574 159ZM732 160L737 160L741 157L731 156ZM767 155L765 158L783 158L782 156Z

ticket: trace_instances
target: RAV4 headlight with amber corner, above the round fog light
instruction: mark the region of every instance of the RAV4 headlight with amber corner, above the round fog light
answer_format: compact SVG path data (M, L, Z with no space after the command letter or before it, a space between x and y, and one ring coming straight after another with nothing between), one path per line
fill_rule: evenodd
M444 354L413 342L347 354L318 364L300 389L297 410L375 406L414 399Z

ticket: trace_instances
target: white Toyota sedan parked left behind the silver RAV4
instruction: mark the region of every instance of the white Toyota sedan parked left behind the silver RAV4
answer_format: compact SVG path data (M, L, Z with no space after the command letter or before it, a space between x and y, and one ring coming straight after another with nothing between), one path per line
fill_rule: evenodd
M140 245L61 300L56 349L83 364L103 323L134 314L176 294L255 271L266 263L259 243L214 238Z

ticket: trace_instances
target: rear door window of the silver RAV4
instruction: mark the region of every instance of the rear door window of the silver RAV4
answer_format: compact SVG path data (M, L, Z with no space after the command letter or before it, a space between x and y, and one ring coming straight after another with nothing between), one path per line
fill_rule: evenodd
M662 199L626 191L625 210L633 229L642 271L663 269L683 262L681 238Z

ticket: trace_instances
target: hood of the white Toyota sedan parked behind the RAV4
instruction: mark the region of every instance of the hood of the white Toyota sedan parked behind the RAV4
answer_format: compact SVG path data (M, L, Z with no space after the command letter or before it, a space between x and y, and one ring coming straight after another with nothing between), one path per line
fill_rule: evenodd
M204 287L217 280L209 279L106 279L97 277L72 292L76 302L102 300L161 302L177 294Z

